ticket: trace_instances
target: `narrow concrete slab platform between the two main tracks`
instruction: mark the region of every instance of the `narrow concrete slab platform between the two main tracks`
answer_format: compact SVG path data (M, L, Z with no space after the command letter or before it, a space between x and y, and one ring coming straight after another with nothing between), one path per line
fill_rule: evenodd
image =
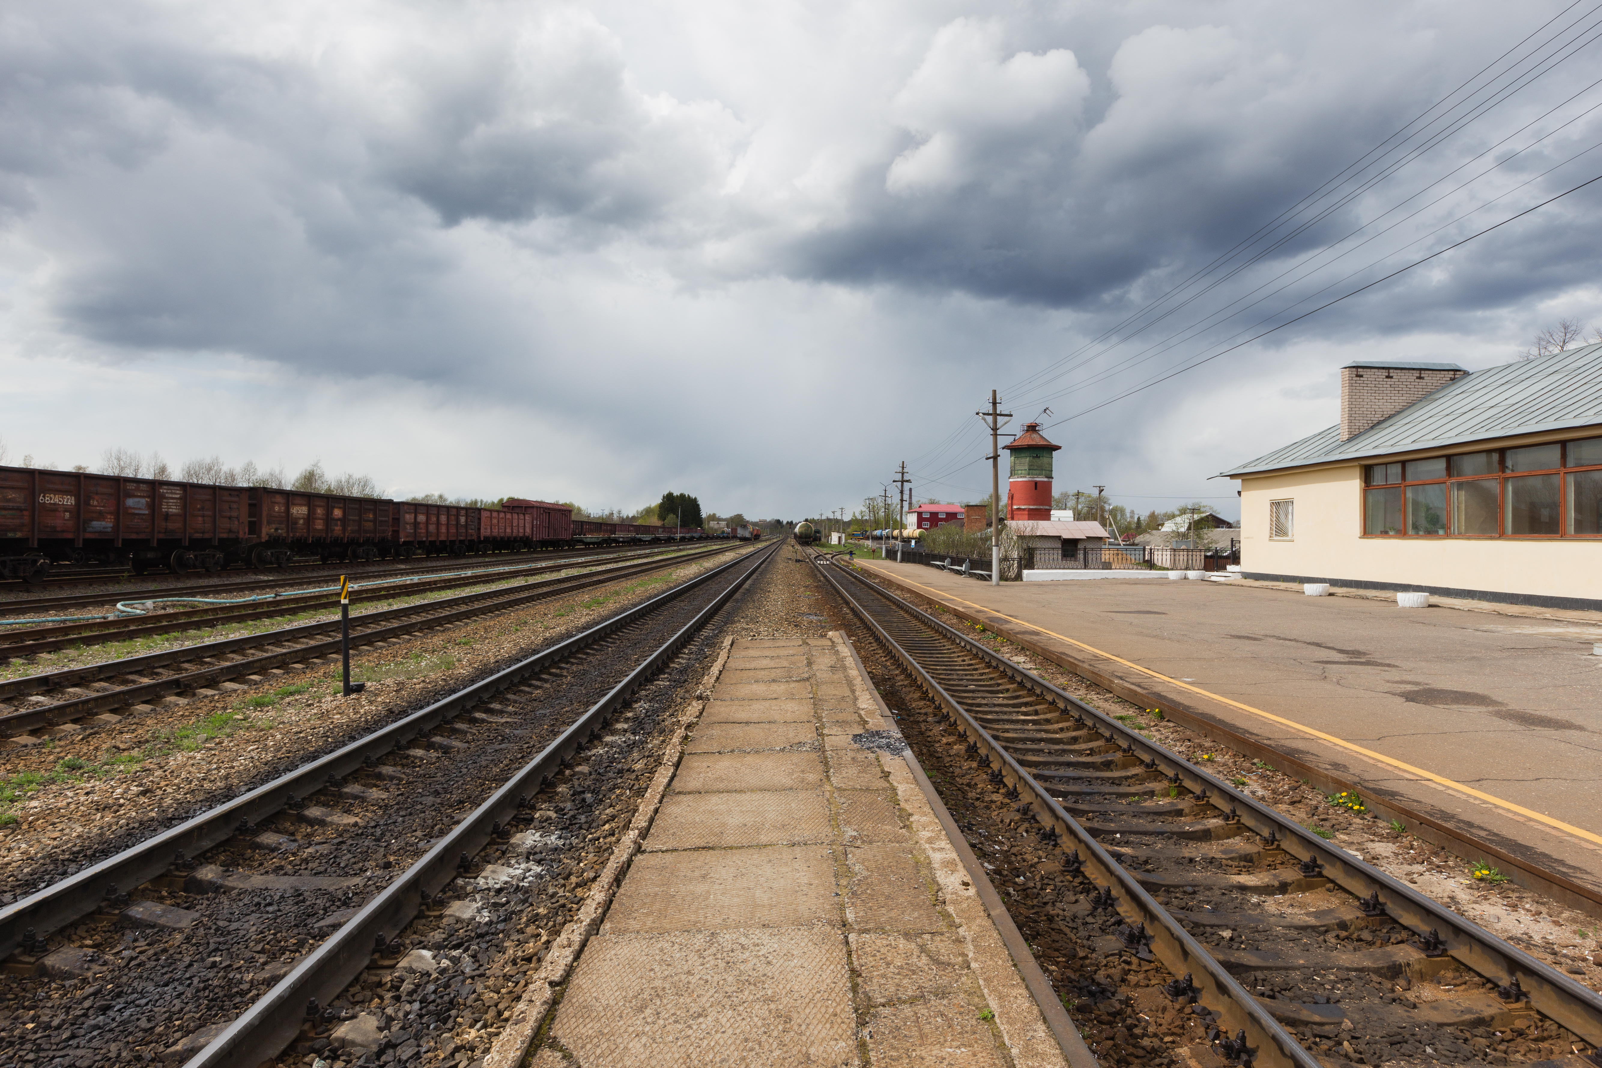
M1094 1063L843 634L698 697L487 1068Z

